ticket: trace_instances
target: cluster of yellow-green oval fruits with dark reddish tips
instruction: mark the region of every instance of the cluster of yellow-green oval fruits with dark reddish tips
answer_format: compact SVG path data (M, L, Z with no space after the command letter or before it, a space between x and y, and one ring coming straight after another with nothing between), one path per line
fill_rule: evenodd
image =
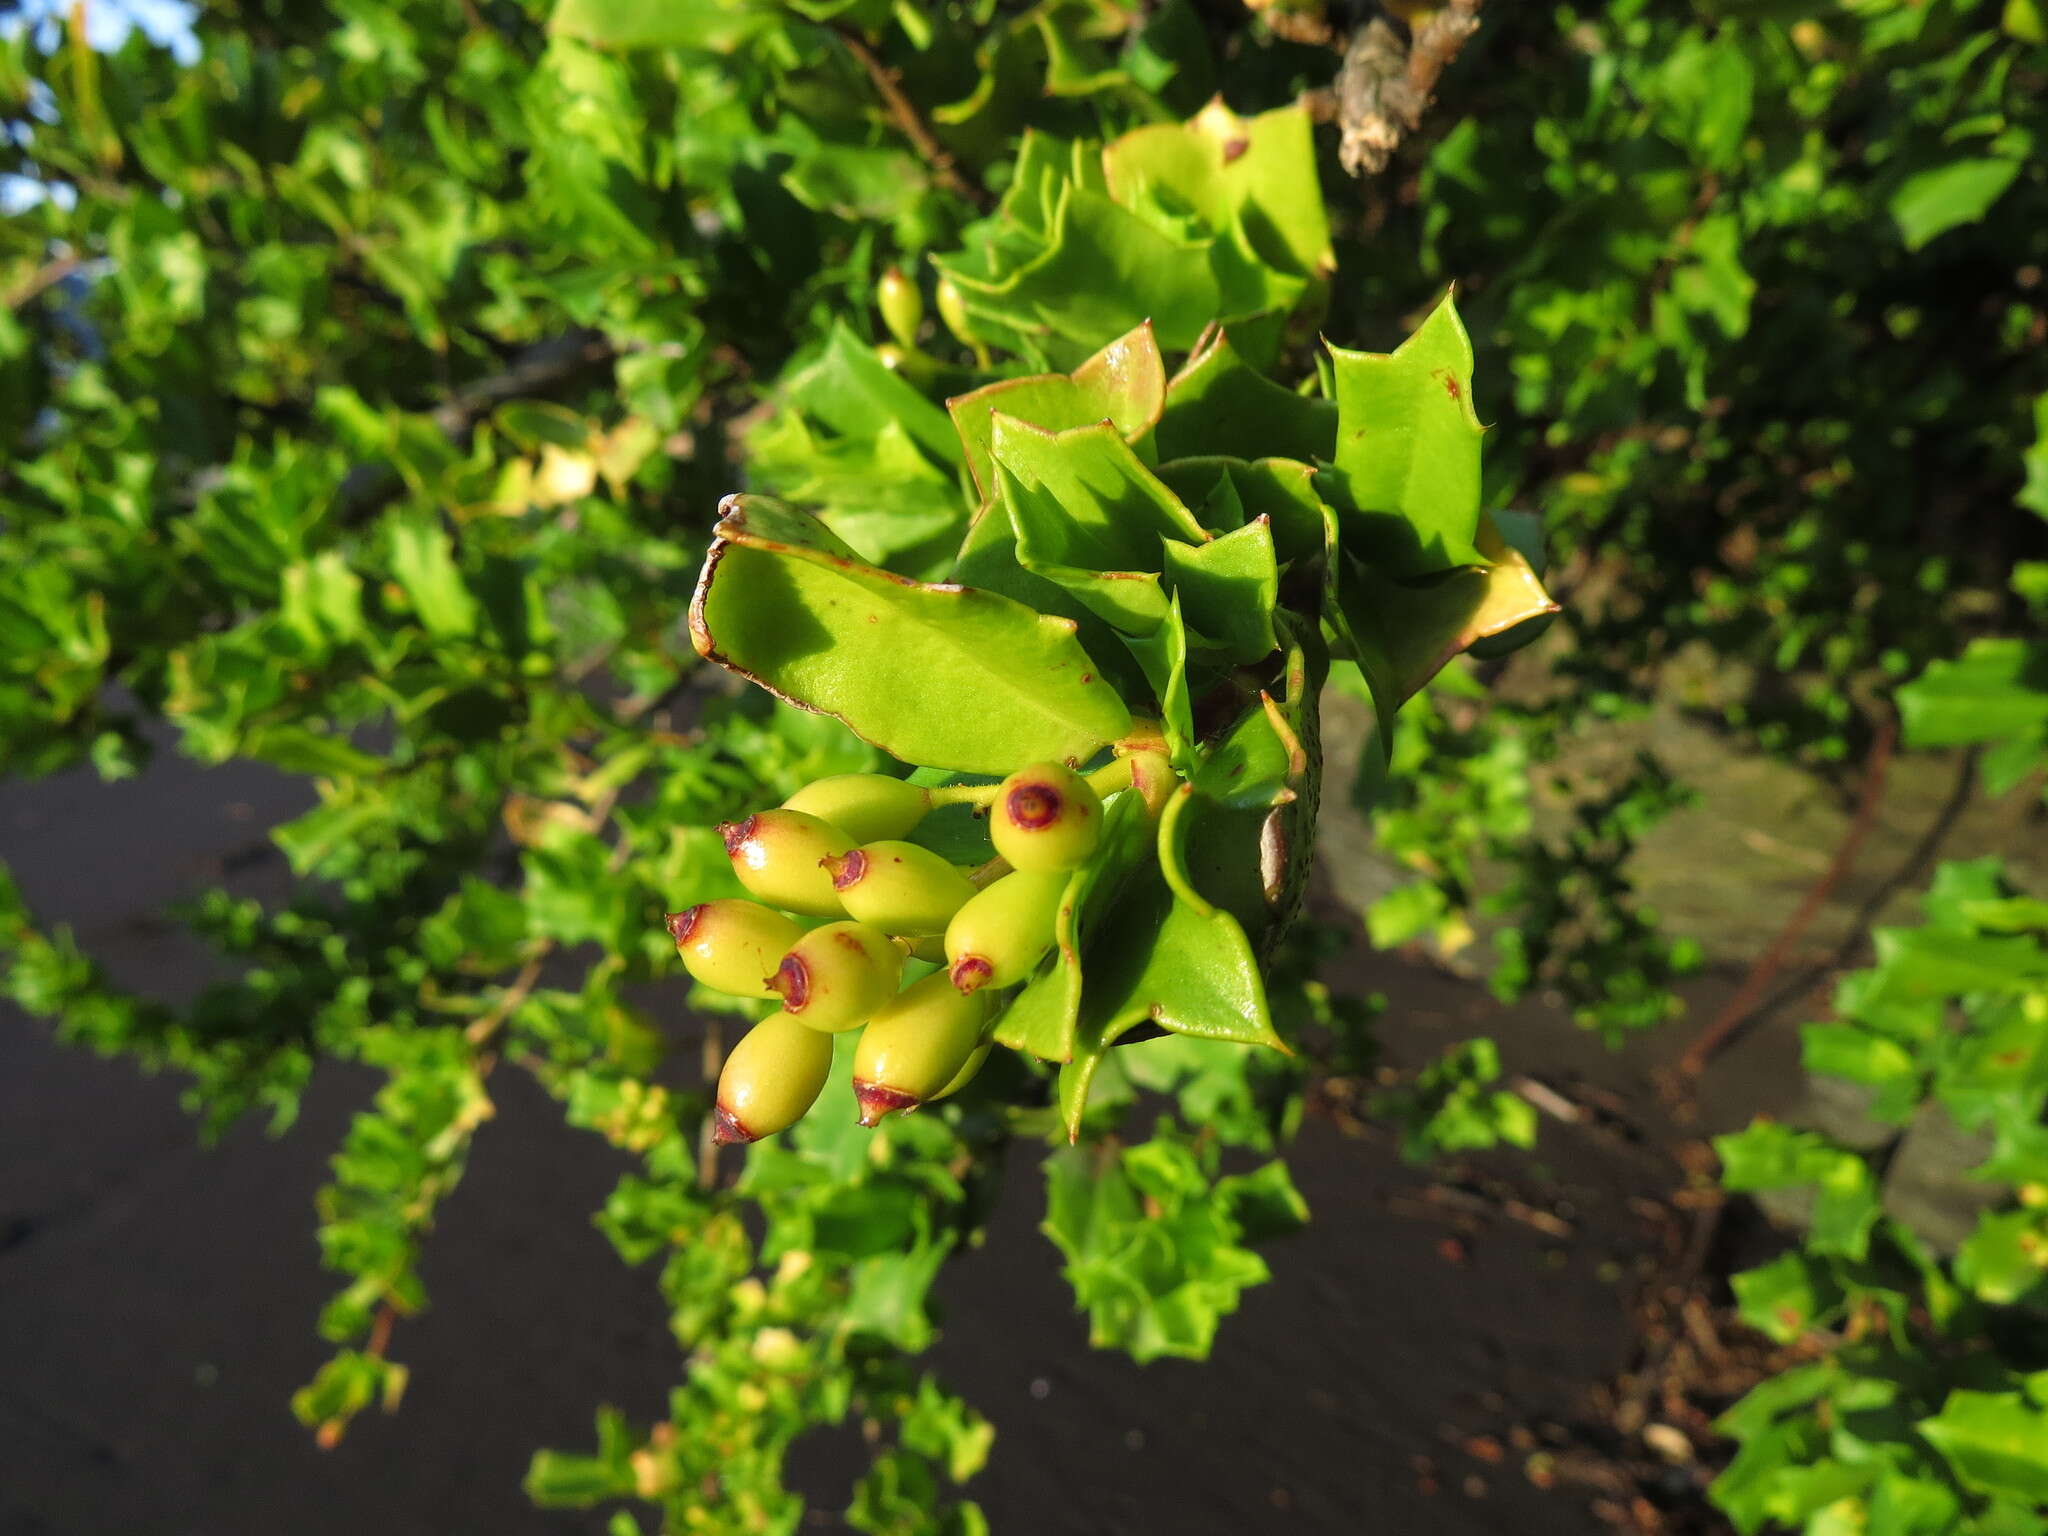
M727 1055L715 1137L758 1141L803 1118L831 1069L831 1036L846 1030L862 1030L864 1126L965 1087L989 1055L997 995L1051 950L1071 874L1096 852L1098 782L1128 786L1130 766L1118 760L1094 780L1057 762L981 788L836 774L719 827L760 899L705 901L672 913L668 930L707 987L782 1008ZM961 801L989 819L995 858L979 868L907 842L936 805ZM799 918L827 922L805 930Z

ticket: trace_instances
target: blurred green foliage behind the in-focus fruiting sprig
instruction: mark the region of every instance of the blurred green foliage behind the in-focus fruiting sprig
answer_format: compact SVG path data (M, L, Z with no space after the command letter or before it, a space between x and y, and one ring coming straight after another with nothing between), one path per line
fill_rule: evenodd
M668 1423L602 1417L592 1452L537 1458L532 1493L784 1530L782 1452L854 1413L877 1425L856 1528L983 1528L942 1489L981 1464L987 1425L918 1354L932 1276L995 1196L999 1145L1049 1128L1028 1108L1044 1090L995 1081L874 1151L825 1106L737 1184L700 1157L698 1036L657 918L723 893L719 819L872 758L707 678L688 586L739 485L825 508L885 487L907 555L944 541L956 514L915 518L956 471L895 391L1040 358L987 317L987 338L926 322L928 350L887 373L883 270L932 313L932 258L991 270L1026 135L1108 139L1217 92L1247 115L1311 92L1327 117L1366 18L1313 0L94 0L0 23L0 754L12 774L121 778L174 739L319 797L274 831L287 907L215 893L184 913L233 983L133 995L8 895L6 991L66 1038L182 1073L209 1126L289 1122L322 1059L387 1075L319 1208L342 1290L319 1319L338 1354L297 1405L317 1434L397 1403L418 1247L489 1075L524 1069L641 1157L600 1223L629 1264L659 1262L688 1354ZM1374 942L1454 948L1485 915L1501 995L1556 987L1610 1036L1669 1020L1698 946L1640 907L1626 864L1686 786L1647 754L1573 782L1563 836L1532 815L1575 735L1659 694L1847 791L1925 674L1909 745L1978 745L1993 793L2038 774L2044 131L2038 0L1612 0L1483 12L1380 176L1346 176L1319 133L1337 266L1286 289L1276 354L1298 362L1315 326L1393 346L1456 283L1489 504L1540 514L1565 602L1505 678L1448 672L1395 772L1358 786L1411 872L1368 913ZM1044 299L1102 340L1133 303L1106 274ZM1499 684L1483 711L1475 676ZM1864 1047L1858 1081L1915 1083L1894 1108L1950 1083L1911 1065L1948 1049L1948 999L2023 1036L2001 1036L2019 1055L1972 1079L1968 1110L2007 1096L2003 1255L2034 1237L2011 1217L2038 1210L2025 1190L2048 1188L2021 1159L2040 1157L2044 930L2038 903L1997 905L2021 897L1995 872L1970 889L1931 928L1991 942L1993 981L1909 977L1911 1020L1868 997L1845 1014L1890 1044ZM1315 1051L1133 1049L1094 1137L1049 1157L1049 1231L1100 1343L1202 1354L1264 1276L1251 1245L1300 1221L1282 1161L1219 1159L1270 1159L1311 1073L1368 1059L1370 1008L1313 981L1337 942L1305 930L1276 967L1276 1010ZM1460 1047L1384 1112L1417 1151L1526 1139L1491 1073L1491 1049ZM1759 1155L1749 1186L1860 1178L1804 1145ZM1798 1327L1868 1333L1923 1286L1935 1333L1997 1337L2007 1366L1972 1343L1911 1413L1872 1366L1845 1399L1870 1454L1821 1417L1751 1411L1731 1513L2044 1530L2038 1286L1989 1249L1958 1278L1907 1239L1911 1284L1874 1276L1874 1221L1858 1206L1821 1235L1823 1278L1778 1276L1804 1286ZM1888 1337L1913 1354L1911 1333ZM1841 1524L1843 1501L1868 1524Z

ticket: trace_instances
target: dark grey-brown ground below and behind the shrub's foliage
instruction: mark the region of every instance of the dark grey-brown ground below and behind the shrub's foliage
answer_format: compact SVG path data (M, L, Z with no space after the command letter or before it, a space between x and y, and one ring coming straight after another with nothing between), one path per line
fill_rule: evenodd
M178 995L205 958L156 913L209 883L281 893L264 827L301 795L168 754L127 784L10 784L0 856L119 979ZM1790 1096L1790 1032L1731 1051L1702 1122L1679 1126L1651 1083L1686 1026L1610 1055L1554 1012L1505 1010L1362 944L1331 981L1386 993L1393 1063L1485 1030L1511 1073L1606 1108L1546 1116L1534 1157L1448 1169L1403 1165L1341 1106L1313 1116L1292 1165L1315 1223L1268 1249L1272 1284L1202 1366L1087 1350L1024 1149L987 1245L942 1282L938 1366L997 1425L971 1493L999 1536L1612 1528L1626 1493L1608 1473L1532 1479L1530 1458L1597 1464L1612 1438L1597 1389L1630 1370L1632 1319L1669 1247L1673 1149ZM1694 1020L1731 985L1704 979ZM403 1409L365 1415L330 1452L293 1421L332 1290L311 1200L371 1087L330 1069L281 1139L244 1124L205 1149L176 1081L0 1014L4 1536L602 1530L602 1511L530 1507L526 1460L588 1446L600 1403L655 1411L680 1356L651 1274L590 1225L623 1163L516 1073L494 1079L500 1114L428 1249L432 1307L395 1335ZM823 1507L844 1501L856 1450L801 1450L795 1473ZM1604 1495L1587 1487L1602 1477ZM840 1522L817 1511L809 1528Z

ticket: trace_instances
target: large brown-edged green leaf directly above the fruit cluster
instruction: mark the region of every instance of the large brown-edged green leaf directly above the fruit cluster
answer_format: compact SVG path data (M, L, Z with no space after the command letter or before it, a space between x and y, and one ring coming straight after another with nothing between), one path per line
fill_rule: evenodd
M721 510L690 604L698 655L932 768L1081 760L1130 729L1071 623L862 565L766 498Z

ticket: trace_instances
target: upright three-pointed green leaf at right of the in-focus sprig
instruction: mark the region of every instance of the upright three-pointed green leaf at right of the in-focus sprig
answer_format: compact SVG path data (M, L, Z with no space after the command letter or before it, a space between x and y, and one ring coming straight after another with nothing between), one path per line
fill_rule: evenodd
M1393 352L1329 348L1346 553L1395 578L1485 565L1473 342L1446 295Z

